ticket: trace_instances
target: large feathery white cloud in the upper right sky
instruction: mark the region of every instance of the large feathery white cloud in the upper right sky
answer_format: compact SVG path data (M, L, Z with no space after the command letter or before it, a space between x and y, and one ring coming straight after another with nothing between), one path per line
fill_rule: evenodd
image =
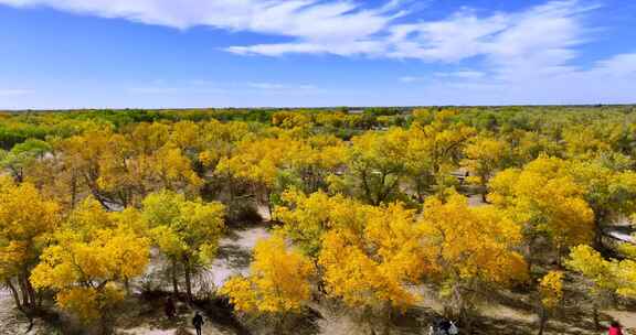
M400 7L399 2L393 3L392 8L395 7ZM536 74L538 66L545 72L565 69L565 64L576 56L575 46L585 41L587 31L581 14L595 8L583 6L579 0L555 0L518 12L496 12L486 17L462 9L442 20L414 23L396 23L393 20L400 15L396 12L368 10L364 12L370 17L363 20L356 17L360 21L330 20L325 24L356 26L352 22L375 21L378 24L371 24L373 29L353 29L350 31L356 33L338 33L338 39L326 40L305 33L283 33L295 40L231 46L227 51L268 56L294 53L365 55L444 63L481 56L501 67L501 72Z

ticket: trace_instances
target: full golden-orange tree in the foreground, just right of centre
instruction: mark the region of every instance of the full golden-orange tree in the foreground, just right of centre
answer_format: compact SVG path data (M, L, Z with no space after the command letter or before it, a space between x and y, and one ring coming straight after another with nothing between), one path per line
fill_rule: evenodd
M469 321L483 287L508 287L527 279L527 264L516 251L521 226L492 206L469 207L456 193L443 202L430 198L420 229L432 279L459 317Z

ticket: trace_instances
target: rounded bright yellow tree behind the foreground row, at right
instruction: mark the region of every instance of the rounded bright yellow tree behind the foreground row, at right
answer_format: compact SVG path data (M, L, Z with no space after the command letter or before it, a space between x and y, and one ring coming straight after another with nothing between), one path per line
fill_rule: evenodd
M592 241L594 213L566 166L563 160L541 156L521 170L498 173L489 184L489 201L524 226L530 257L541 234L551 239L559 261L569 248Z

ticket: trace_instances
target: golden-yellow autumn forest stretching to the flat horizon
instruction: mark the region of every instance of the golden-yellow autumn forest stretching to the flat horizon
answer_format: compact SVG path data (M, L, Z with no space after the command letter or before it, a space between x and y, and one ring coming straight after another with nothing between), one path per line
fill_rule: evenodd
M634 106L6 111L0 169L41 334L636 331Z

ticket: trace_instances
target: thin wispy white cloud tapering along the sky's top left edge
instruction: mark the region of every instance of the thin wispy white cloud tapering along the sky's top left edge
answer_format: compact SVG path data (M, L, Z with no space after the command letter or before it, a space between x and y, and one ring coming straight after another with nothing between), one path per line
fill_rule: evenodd
M20 8L50 7L178 29L204 25L311 41L374 34L400 14L395 9L400 2L363 9L349 0L0 0Z

